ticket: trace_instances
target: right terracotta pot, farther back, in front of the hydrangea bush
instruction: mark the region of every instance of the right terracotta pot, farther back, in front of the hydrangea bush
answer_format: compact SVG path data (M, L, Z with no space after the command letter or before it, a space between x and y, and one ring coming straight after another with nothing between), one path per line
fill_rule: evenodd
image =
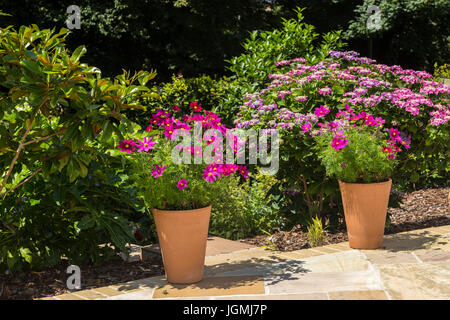
M339 181L350 247L381 247L391 185L391 179L378 183Z

